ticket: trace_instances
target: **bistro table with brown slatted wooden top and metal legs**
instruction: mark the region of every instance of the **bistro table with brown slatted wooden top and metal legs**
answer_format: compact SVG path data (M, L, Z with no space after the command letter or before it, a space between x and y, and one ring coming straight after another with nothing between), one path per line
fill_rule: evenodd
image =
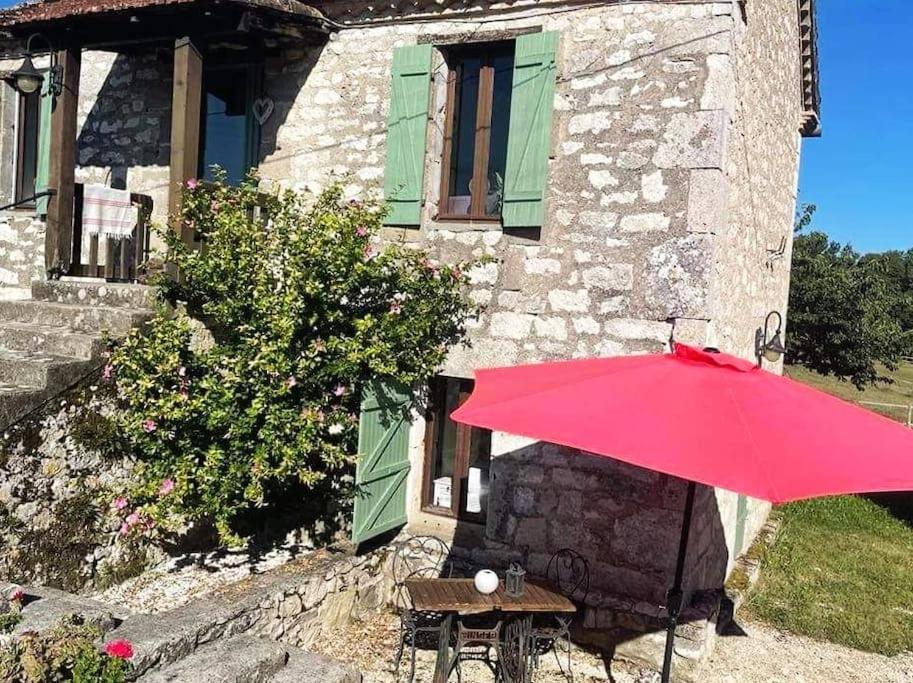
M438 641L437 663L434 668L434 683L446 683L453 665L450 656L450 634L454 615L467 616L486 612L503 612L513 617L507 629L505 650L515 656L516 672L512 676L518 683L528 680L529 634L534 614L571 613L577 608L570 600L544 581L528 579L523 595L514 598L504 592L501 581L491 595L482 595L475 589L472 579L416 578L406 581L406 589L415 609L445 614ZM509 647L508 647L509 646Z

